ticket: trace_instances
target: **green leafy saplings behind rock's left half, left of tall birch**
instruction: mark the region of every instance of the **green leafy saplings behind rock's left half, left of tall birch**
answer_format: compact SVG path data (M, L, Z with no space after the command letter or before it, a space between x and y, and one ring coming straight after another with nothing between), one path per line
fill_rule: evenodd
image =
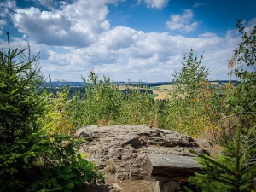
M61 102L59 96L58 100L53 100L53 106L58 106L58 102L64 103L62 110L63 113L68 110L69 117L65 119L70 120L73 130L83 125L148 125L156 122L157 111L147 89L142 90L140 85L134 88L128 84L125 89L120 89L108 77L100 79L93 71L90 71L87 79L82 79L84 95L79 93L68 98L68 102L65 99Z

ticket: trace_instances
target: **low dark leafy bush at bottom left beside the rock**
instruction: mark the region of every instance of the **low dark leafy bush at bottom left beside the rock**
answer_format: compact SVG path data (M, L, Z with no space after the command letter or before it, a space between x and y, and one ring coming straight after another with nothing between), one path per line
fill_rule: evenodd
M84 159L86 154L79 154L79 147L85 141L61 134L43 135L33 140L43 147L38 151L39 158L33 162L33 183L26 191L78 191L83 189L84 182L104 182L97 166ZM31 177L31 172L27 177Z

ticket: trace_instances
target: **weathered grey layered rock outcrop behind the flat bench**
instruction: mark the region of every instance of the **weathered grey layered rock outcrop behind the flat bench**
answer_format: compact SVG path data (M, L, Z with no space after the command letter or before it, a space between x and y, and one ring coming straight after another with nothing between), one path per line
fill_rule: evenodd
M146 154L195 156L190 149L207 152L191 137L143 125L84 126L76 136L88 138L80 148L88 160L101 169L106 168L106 160L115 167L116 180L149 179Z

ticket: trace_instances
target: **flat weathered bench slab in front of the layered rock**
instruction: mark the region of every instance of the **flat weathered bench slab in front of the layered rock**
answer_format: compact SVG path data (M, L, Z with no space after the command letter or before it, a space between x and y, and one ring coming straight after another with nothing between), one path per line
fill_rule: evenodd
M158 181L186 182L201 170L195 157L170 154L147 154L147 157L148 174Z

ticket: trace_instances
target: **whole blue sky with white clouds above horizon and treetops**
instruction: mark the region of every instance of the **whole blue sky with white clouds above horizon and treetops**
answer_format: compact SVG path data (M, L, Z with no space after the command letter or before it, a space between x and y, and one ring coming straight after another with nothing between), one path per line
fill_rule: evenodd
M0 0L0 49L30 45L47 80L169 82L183 54L203 56L212 80L235 79L236 20L256 26L255 0Z

